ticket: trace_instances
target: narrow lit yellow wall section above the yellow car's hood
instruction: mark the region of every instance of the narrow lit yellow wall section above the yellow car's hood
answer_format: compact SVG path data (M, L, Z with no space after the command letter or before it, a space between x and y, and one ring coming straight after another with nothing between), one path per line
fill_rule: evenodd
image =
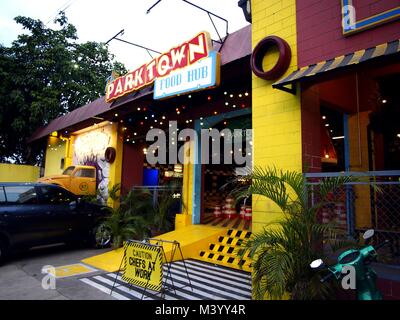
M60 138L50 136L47 139L45 176L61 174L61 159L65 157L66 142Z

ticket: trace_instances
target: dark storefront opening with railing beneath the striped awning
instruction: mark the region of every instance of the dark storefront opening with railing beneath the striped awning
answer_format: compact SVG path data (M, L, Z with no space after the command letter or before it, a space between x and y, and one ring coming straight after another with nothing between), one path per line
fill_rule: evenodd
M336 195L337 205L323 219L333 217L353 235L374 228L380 239L396 246L400 234L399 81L400 64L388 59L305 84L302 94L305 170L320 172L319 176L349 172L362 180Z

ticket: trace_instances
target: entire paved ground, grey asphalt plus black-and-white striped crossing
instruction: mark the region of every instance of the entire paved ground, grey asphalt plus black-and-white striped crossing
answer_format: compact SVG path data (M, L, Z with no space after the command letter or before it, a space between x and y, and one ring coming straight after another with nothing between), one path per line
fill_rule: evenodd
M101 270L56 279L56 288L45 290L44 266L67 266L106 250L54 246L19 253L0 267L0 300L130 300L141 299L143 289L131 287L116 274ZM248 300L251 297L250 274L196 260L186 260L190 283L183 262L173 263L171 275L175 290L167 292L167 300ZM78 266L80 268L80 266ZM61 269L61 273L65 269ZM164 276L167 270L164 272ZM111 293L114 281L116 288ZM171 285L170 278L167 283ZM190 286L192 285L192 287ZM159 299L147 291L144 299Z

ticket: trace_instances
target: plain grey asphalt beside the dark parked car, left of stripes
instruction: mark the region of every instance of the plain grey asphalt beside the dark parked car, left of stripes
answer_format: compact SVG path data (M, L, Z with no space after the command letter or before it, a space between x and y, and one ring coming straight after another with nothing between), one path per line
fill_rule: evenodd
M109 250L109 249L107 249ZM103 253L82 247L57 246L19 253L0 266L0 300L110 300L112 296L88 286L80 278L102 274L95 272L80 276L56 279L56 289L44 290L41 270L46 265L54 267L79 263L82 259Z

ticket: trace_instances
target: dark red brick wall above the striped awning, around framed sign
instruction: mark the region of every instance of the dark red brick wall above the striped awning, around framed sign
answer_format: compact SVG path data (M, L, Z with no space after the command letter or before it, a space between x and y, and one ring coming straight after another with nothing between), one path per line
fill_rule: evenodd
M400 20L351 36L342 34L340 0L297 0L298 63L323 60L400 39ZM400 6L399 0L353 0L357 20Z

